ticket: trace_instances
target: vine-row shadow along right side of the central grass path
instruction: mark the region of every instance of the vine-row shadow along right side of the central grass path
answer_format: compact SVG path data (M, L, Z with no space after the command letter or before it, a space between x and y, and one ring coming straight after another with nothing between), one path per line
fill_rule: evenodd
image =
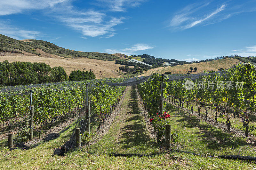
M117 144L121 144L121 148L123 149L136 146L136 150L141 150L143 148L156 145L156 143L149 137L147 130L145 129L135 86L132 86L128 107L131 109L131 111L127 114L132 114L134 116L125 121L127 125L121 129L121 132L124 133L120 136L121 141Z

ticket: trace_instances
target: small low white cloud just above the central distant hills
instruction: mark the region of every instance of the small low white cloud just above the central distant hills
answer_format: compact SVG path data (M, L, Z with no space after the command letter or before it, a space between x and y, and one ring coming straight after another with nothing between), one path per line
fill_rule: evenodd
M116 50L116 49L105 49L106 53L122 53L125 55L132 55L135 54L137 52L141 52L141 51L145 51L148 49L152 49L154 48L154 46L150 46L148 44L143 44L143 43L137 43L133 46L130 47L126 47L124 49L120 49L120 50Z

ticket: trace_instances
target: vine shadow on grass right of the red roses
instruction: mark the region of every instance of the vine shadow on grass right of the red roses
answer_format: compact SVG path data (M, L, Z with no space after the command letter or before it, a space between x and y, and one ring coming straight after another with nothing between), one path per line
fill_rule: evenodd
M172 104L166 105L167 111L178 111L178 109ZM195 140L201 140L205 143L205 146L213 150L222 150L223 148L238 148L239 146L246 145L246 142L241 138L234 137L231 134L221 131L210 124L204 124L197 117L188 117L186 113L179 110L178 113L174 113L171 117L177 117L177 122L182 124L185 128L198 128L199 132L195 134Z

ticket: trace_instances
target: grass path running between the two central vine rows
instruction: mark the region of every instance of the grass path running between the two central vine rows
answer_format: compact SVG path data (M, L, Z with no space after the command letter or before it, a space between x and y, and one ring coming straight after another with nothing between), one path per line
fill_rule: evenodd
M136 89L134 86L127 88L128 92L124 97L122 110L116 116L108 133L92 147L101 146L90 150L91 152L101 154L111 152L150 154L158 150L146 129Z

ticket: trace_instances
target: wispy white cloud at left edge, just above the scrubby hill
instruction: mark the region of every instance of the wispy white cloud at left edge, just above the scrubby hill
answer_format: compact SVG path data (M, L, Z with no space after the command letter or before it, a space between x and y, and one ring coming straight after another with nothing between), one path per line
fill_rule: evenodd
M36 39L36 37L42 35L42 33L38 31L22 30L17 27L9 26L2 20L0 20L0 33L14 39Z

